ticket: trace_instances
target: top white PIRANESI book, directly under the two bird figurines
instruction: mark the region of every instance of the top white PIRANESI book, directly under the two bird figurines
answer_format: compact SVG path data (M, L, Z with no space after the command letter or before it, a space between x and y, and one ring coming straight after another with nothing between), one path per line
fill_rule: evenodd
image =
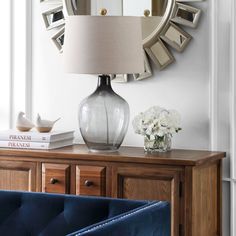
M2 141L50 143L71 138L74 138L74 131L52 131L49 133L20 132L14 129L0 131L0 140Z

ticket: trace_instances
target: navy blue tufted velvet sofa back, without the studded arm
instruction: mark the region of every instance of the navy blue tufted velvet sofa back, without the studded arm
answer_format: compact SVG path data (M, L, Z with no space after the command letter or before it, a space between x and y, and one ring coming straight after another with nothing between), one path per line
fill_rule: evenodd
M65 236L145 204L145 201L0 191L0 235Z

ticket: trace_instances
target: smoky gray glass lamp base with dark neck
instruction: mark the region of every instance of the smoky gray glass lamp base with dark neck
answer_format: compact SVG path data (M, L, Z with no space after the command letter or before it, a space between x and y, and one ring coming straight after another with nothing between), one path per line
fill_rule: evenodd
M98 77L97 89L79 109L79 126L92 152L115 152L122 144L129 124L129 105L111 87L108 75Z

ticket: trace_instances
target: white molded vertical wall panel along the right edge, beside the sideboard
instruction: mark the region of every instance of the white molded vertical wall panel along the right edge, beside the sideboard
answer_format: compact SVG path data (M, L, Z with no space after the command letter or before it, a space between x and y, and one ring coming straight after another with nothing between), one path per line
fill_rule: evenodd
M232 164L234 158L234 79L231 61L234 0L211 0L211 149L227 152L223 163L223 235L235 235ZM231 55L232 54L232 55ZM231 69L232 68L232 69ZM231 103L229 102L231 101ZM234 144L233 144L234 143ZM232 145L233 144L233 145Z

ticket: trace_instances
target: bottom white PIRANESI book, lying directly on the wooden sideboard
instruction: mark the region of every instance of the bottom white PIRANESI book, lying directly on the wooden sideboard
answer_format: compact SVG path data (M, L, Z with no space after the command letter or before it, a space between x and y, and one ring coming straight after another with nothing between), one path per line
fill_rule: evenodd
M73 145L73 139L66 139L52 143L45 142L21 142L21 141L0 141L1 148L13 149L55 149Z

